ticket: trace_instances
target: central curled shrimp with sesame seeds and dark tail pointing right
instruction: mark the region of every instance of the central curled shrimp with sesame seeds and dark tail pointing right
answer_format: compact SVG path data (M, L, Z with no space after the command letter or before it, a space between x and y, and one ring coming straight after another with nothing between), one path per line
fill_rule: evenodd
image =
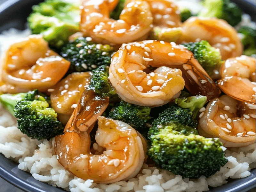
M158 68L150 72L148 66ZM123 44L112 57L109 80L119 97L140 106L168 103L180 95L184 84L192 94L206 95L209 100L220 95L193 53L174 42Z

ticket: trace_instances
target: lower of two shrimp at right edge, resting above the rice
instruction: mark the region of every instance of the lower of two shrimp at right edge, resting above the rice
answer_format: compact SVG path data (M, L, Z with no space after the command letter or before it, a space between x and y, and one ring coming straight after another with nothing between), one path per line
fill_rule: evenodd
M219 137L225 147L255 143L255 105L222 95L213 99L199 120L199 134Z

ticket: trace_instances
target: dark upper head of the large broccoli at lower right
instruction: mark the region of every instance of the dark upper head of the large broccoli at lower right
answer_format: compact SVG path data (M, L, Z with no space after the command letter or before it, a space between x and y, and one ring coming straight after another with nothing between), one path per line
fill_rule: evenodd
M153 121L148 136L151 138L165 126L172 126L173 130L180 134L198 134L196 130L197 121L193 119L190 109L181 108L175 105L170 106Z

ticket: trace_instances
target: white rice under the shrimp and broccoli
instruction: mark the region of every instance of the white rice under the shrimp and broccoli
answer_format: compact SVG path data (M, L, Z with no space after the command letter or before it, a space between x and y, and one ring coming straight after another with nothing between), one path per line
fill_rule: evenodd
M75 2L76 0L67 0ZM197 0L179 1L180 7L188 7L193 13L199 12ZM198 9L199 7L199 9ZM250 16L243 15L237 26L253 26ZM30 34L27 29L19 31L10 29L0 35L0 56L10 44ZM95 184L93 180L82 180L66 171L54 154L54 138L48 140L32 140L17 129L16 119L0 104L0 153L19 163L18 168L28 171L39 181L47 182L71 192L202 192L209 186L217 187L227 183L228 178L244 178L255 168L255 144L241 148L226 150L228 163L220 171L209 178L197 180L182 179L166 170L149 167L144 164L136 178L119 181L113 184Z

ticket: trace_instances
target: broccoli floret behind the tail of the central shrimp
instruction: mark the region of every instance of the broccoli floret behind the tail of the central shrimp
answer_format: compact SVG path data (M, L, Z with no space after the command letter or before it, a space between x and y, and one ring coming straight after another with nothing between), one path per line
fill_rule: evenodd
M213 70L218 69L221 64L220 51L212 47L207 41L190 42L183 44L189 51L194 53L196 60L204 70L212 76Z

